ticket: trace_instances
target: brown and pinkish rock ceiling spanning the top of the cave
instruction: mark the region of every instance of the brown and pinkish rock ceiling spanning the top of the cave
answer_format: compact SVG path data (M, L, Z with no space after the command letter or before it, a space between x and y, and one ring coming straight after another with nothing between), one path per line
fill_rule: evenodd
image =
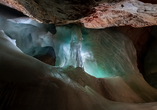
M146 2L146 3L144 3ZM157 24L154 0L1 0L39 22L79 23L87 28Z

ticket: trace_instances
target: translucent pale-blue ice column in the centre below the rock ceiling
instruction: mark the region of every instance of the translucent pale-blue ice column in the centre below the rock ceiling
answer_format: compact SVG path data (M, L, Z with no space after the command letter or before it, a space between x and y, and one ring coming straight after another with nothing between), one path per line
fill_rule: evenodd
M81 28L76 25L58 26L56 30L57 33L53 38L53 47L57 55L56 66L83 68Z

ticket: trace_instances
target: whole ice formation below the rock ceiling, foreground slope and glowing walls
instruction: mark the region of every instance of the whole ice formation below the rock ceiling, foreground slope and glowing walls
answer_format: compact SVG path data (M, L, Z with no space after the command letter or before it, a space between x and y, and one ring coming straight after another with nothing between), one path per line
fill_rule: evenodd
M139 73L126 36L75 25L59 26L53 35L33 25L0 23L0 109L157 109L157 90ZM54 48L56 66L24 54L45 46Z

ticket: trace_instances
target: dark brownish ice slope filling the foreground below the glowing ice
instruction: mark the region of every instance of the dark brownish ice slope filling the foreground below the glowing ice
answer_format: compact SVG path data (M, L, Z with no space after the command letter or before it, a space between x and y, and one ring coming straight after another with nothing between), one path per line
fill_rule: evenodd
M63 69L46 65L28 55L25 55L12 40L0 31L0 109L9 110L156 110L157 103L127 103L145 102L139 100L140 95L144 95L146 88L151 91L148 96L153 99L152 95L156 90L148 86L142 77L128 77L127 83L121 78L111 79L94 79L94 77L85 74L84 86L75 80L82 77L83 72L79 69ZM79 70L79 71L78 71ZM76 71L78 74L71 74ZM67 73L68 72L68 73ZM74 76L74 78L72 78ZM137 79L136 79L137 78ZM118 80L117 80L118 79ZM115 82L116 81L116 82ZM133 82L132 82L133 81ZM143 83L143 82L144 83ZM90 84L88 84L90 82ZM142 82L142 86L141 83ZM120 83L120 84L119 84ZM133 83L133 87L131 84ZM100 86L103 85L103 86ZM101 87L94 89L93 87ZM107 87L108 86L108 87ZM137 86L137 87L136 87ZM106 89L109 88L109 89ZM118 88L116 88L118 87ZM130 88L129 88L130 87ZM128 89L129 88L129 89ZM121 102L111 101L99 94L99 92L109 92L112 97L117 96ZM116 92L114 92L116 90ZM140 90L142 92L140 92ZM134 92L137 94L128 97ZM119 93L117 95L117 92ZM126 92L125 94L123 92ZM116 95L115 95L116 94ZM146 98L147 95L141 97ZM126 101L126 102L125 102Z

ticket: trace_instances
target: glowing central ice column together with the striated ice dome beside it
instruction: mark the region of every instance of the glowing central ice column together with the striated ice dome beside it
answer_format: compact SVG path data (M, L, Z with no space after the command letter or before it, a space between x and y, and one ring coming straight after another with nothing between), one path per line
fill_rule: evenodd
M112 29L80 30L78 26L59 27L58 30L56 40L62 41L59 47L62 51L58 52L62 67L82 67L98 78L138 72L136 50L131 40L119 32Z

